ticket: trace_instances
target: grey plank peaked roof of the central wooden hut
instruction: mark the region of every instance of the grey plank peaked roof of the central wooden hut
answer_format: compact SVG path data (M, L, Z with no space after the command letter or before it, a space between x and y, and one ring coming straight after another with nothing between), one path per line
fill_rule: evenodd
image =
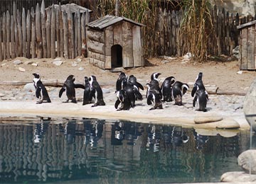
M139 25L139 26L145 26L141 23L137 23L135 21L132 21L129 18L125 18L125 17L119 17L119 16L104 16L100 19L97 19L95 21L90 22L87 26L90 28L95 28L95 29L99 29L102 30L104 28L109 27L110 25L113 25L115 23L118 23L120 21L127 21L129 23L134 23L135 25Z

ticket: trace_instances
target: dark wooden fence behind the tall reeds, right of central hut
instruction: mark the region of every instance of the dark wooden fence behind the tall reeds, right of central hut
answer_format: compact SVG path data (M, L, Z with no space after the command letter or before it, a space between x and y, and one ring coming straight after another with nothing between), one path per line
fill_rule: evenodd
M182 56L190 52L186 38L179 28L183 18L183 11L164 11L159 8L159 16L153 23L154 28L144 28L144 53L149 57L155 56ZM230 14L224 9L217 10L216 6L211 11L213 33L208 42L208 54L218 56L221 54L232 55L232 50L238 46L239 31L237 25L256 19L256 17L240 18Z

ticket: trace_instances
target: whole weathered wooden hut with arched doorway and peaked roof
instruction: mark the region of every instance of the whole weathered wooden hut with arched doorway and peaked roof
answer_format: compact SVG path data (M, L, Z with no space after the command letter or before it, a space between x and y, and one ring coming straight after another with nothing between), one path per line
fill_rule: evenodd
M87 24L89 62L101 69L142 67L141 27L129 18L105 16Z

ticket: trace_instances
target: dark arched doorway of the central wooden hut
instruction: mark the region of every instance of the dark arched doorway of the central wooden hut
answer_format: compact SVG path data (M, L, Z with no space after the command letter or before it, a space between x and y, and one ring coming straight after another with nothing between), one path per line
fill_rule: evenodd
M122 67L122 46L113 45L111 47L111 67Z

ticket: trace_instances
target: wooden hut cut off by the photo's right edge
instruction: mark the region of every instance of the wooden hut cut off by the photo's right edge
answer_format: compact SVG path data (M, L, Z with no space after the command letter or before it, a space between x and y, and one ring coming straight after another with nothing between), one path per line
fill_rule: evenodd
M256 69L256 20L237 26L240 30L239 64L242 70Z

